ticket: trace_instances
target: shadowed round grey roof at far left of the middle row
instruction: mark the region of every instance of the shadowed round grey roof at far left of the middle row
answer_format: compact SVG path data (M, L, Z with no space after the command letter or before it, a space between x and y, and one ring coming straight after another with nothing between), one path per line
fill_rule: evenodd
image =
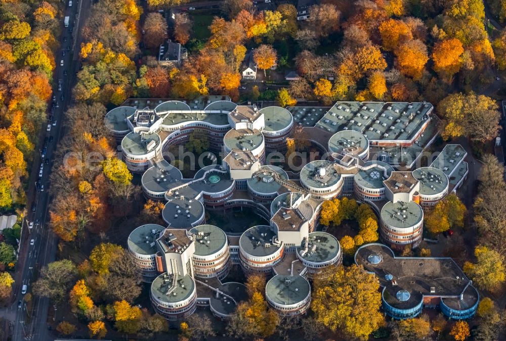
M157 162L142 174L141 182L153 192L164 192L167 189L184 183L181 171L165 160Z

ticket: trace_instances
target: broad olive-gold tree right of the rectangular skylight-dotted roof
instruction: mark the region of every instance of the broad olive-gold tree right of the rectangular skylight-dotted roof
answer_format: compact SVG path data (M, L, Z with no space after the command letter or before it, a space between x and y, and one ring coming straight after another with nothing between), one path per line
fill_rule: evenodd
M497 104L485 95L453 93L438 105L446 126L442 132L445 139L468 136L473 141L489 141L497 135L499 112Z

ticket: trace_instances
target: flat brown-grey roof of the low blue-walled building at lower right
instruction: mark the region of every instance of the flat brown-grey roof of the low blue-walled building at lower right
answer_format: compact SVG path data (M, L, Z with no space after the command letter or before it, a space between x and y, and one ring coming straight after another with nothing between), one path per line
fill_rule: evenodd
M379 263L370 262L373 259L379 260ZM451 258L395 257L390 248L379 243L359 248L355 254L355 263L376 274L379 283L385 287L384 300L398 309L416 306L423 299L423 295L450 296L455 297L452 300L462 301L457 297L469 284L469 279ZM392 275L392 279L387 279L387 275ZM392 280L395 280L395 283ZM431 287L435 289L435 293L431 293ZM404 296L407 300L397 299L400 290L408 292L408 295ZM465 295L462 304L471 307L477 302L478 293L476 290L466 290L466 293L471 295Z

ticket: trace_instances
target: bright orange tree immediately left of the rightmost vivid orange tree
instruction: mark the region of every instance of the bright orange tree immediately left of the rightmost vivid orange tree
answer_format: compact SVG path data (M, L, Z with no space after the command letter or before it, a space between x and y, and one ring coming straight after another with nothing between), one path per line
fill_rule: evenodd
M425 65L429 61L427 46L419 39L409 40L400 44L394 51L397 66L406 76L414 80L421 78Z

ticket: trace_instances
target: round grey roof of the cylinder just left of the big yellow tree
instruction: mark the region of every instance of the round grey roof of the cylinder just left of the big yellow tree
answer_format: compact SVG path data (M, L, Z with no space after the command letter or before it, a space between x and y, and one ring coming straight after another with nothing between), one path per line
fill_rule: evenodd
M265 286L265 296L280 305L292 305L303 301L310 293L311 286L306 278L276 275Z

